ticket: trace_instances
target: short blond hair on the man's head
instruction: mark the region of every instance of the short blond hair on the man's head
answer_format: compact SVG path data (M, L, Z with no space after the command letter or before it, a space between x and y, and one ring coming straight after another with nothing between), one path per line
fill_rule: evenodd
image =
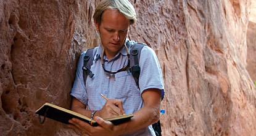
M101 24L102 13L106 9L117 9L130 20L130 25L133 25L137 20L135 9L128 0L103 0L97 5L93 14L93 19L96 23Z

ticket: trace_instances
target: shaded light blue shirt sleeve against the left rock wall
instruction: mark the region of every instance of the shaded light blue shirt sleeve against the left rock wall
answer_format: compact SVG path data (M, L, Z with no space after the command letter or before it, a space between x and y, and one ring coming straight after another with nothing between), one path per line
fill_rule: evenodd
M71 89L70 95L80 100L85 105L88 105L88 97L85 89L85 81L83 79L83 58L85 56L85 52L81 53L77 67L76 67L76 75L75 81L73 84L73 88Z

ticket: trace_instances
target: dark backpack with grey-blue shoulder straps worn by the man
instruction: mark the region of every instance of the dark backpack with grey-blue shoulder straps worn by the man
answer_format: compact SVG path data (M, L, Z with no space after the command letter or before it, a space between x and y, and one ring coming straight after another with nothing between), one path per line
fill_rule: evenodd
M133 75L134 81L136 82L136 85L139 86L139 74L141 72L141 68L139 67L139 57L141 55L141 50L144 46L146 46L145 43L136 43L134 42L133 45L131 46L130 50L130 66L128 67L128 70L130 70L131 74ZM96 48L91 48L86 51L85 57L83 58L83 77L84 81L86 83L86 78L89 76L90 78L93 78L94 74L91 72L91 65L93 64L93 58L94 55L96 54L97 47ZM162 99L163 99L163 91L162 91ZM155 135L161 136L161 124L160 120L152 124L152 127L155 131Z

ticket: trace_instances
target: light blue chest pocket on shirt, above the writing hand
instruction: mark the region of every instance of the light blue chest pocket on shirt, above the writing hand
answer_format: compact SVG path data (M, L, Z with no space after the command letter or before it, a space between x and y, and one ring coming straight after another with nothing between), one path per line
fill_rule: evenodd
M123 71L115 74L114 89L115 99L121 99L123 102L132 95L140 95L139 88L136 85L133 75L130 72Z

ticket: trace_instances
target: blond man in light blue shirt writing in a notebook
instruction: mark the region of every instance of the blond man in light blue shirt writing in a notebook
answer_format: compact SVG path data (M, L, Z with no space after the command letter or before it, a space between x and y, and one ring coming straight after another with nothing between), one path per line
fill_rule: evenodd
M76 78L71 91L71 109L93 118L99 126L93 127L79 119L70 119L70 127L87 135L155 135L151 124L159 120L163 78L154 51L144 46L139 66L139 86L125 69L129 64L127 39L130 25L136 21L134 7L128 0L104 0L93 15L96 30L101 37L91 71L94 78L83 78L83 57L80 56ZM100 94L108 98L105 100ZM133 113L130 121L114 125L102 118Z

